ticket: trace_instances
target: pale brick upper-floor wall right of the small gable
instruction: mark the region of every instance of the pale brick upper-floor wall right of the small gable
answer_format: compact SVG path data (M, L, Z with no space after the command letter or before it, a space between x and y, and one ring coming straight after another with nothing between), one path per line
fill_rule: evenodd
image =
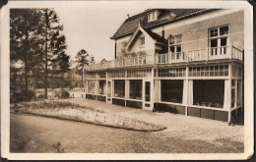
M232 45L243 49L243 11L224 15L221 17L209 19L206 21L186 25L183 27L175 27L166 29L164 37L169 34L182 34L182 50L202 49L208 47L208 29L211 27L220 27L229 25L229 41ZM161 35L161 31L158 32Z

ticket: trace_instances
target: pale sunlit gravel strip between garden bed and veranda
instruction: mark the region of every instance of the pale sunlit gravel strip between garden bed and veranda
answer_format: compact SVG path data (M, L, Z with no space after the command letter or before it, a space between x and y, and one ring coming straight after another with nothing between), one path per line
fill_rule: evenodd
M163 132L169 132L173 137L179 136L186 139L201 139L221 144L219 140L229 139L243 142L244 127L240 125L228 126L226 122L214 121L196 117L186 117L184 115L172 113L153 113L147 110L127 108L108 104L101 101L87 100L84 98L66 99L82 106L91 106L98 110L110 111L116 115L129 118L137 118L157 125L166 126Z

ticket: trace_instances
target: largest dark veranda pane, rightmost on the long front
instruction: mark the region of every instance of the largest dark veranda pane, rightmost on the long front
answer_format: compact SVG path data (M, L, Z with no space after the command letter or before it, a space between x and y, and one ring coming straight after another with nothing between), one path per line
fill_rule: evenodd
M224 107L224 80L193 81L193 104L207 107Z

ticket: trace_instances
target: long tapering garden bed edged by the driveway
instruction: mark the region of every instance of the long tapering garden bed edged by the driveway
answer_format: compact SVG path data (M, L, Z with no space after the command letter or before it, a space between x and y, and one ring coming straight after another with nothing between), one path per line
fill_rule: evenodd
M73 104L70 102L24 102L11 105L11 112L67 119L141 132L157 132L166 129L164 126L122 117L105 111L95 110L92 107L82 107L78 104Z

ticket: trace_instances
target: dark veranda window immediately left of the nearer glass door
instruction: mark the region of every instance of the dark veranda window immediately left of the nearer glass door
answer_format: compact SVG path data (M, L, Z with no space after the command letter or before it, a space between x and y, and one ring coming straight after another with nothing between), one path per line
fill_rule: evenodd
M131 99L142 99L142 80L130 81L130 94Z

